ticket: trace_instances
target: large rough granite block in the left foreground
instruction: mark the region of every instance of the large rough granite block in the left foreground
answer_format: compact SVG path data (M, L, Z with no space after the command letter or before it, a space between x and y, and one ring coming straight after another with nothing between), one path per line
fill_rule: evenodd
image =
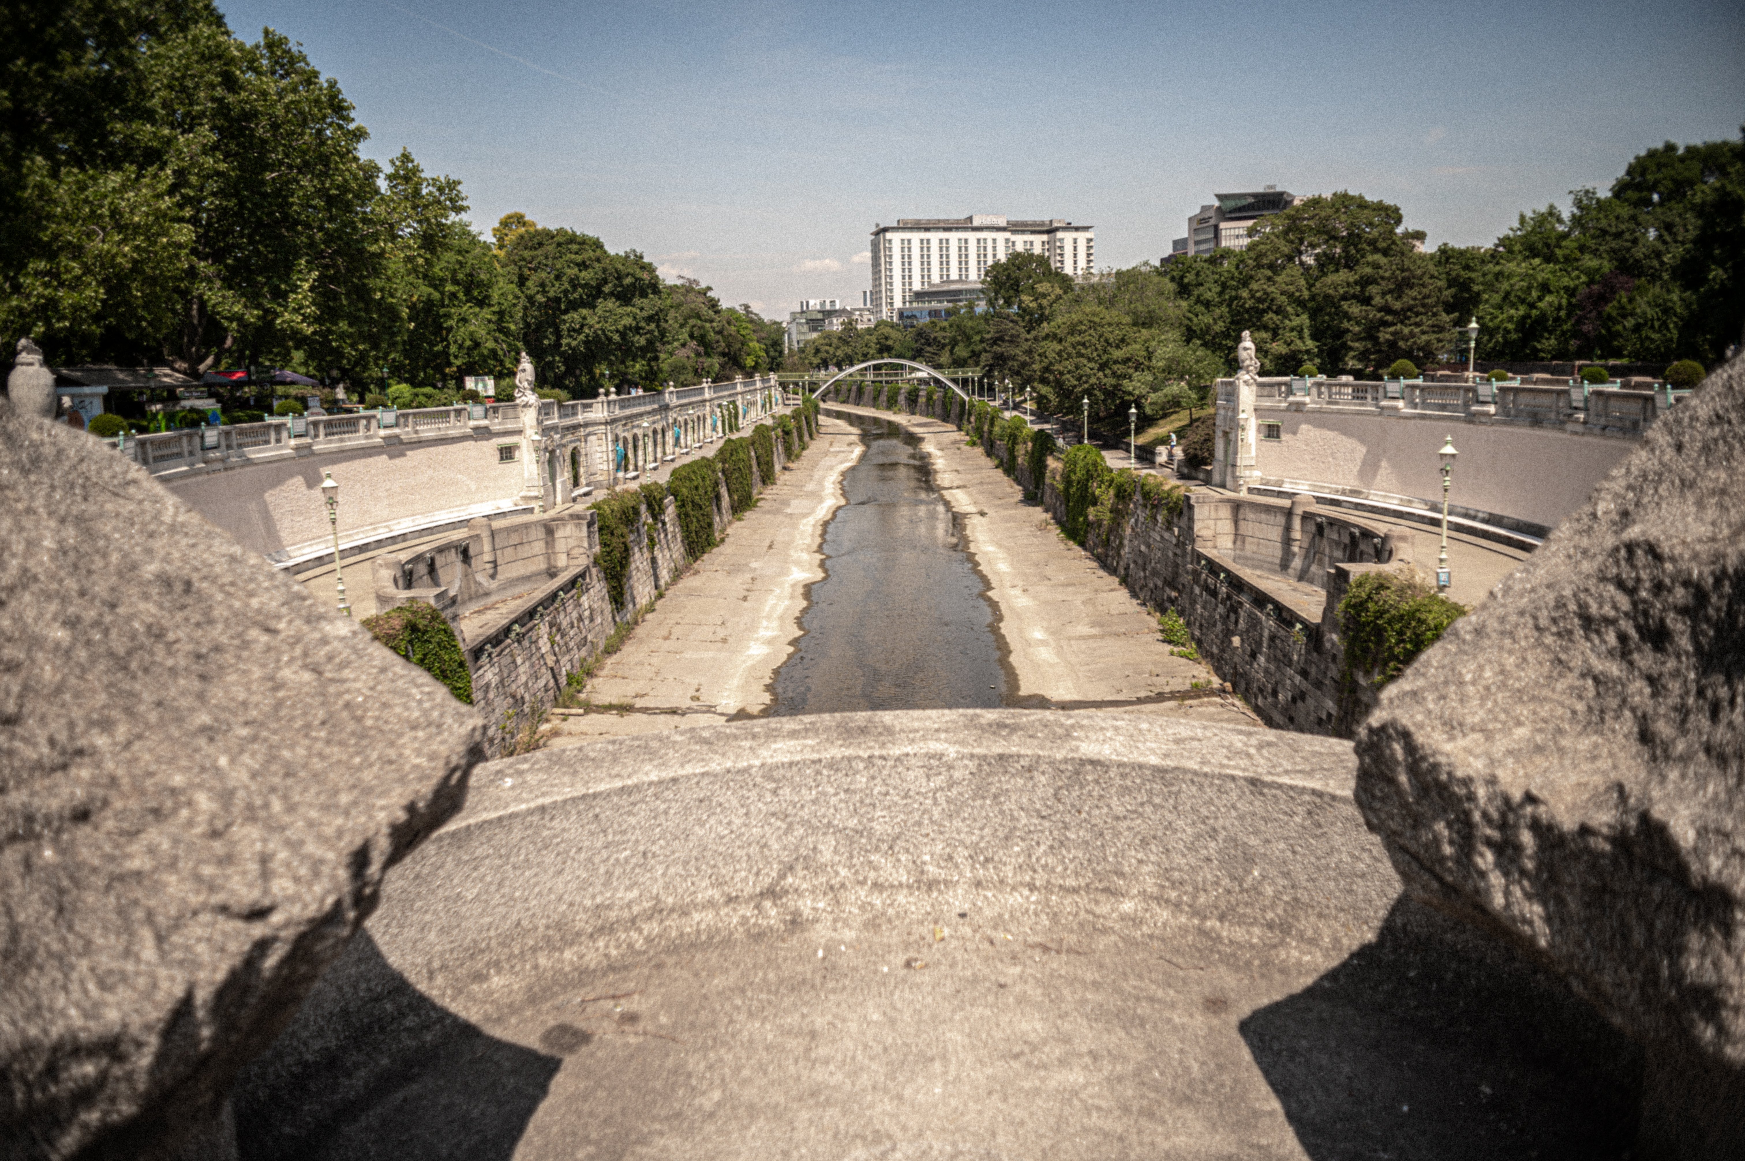
M216 1156L236 1072L462 805L478 718L12 409L0 545L0 1156Z

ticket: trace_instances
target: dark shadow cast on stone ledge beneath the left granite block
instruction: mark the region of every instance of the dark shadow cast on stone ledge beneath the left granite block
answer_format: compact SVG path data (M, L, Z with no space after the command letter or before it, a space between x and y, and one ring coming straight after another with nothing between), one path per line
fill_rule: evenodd
M237 1152L508 1161L558 1067L431 1002L363 931L237 1081Z

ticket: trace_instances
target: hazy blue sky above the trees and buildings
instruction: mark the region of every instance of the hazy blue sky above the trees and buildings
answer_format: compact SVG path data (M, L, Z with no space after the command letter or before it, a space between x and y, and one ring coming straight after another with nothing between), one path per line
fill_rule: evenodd
M1096 225L1153 262L1220 190L1349 189L1429 244L1745 122L1735 2L220 0L335 77L386 161L787 318L860 302L874 222Z

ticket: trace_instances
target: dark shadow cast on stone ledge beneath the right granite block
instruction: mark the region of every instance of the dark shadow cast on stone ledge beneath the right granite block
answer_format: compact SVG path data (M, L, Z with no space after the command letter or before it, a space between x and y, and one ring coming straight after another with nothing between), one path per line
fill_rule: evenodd
M1640 1049L1557 978L1408 897L1241 1034L1314 1161L1590 1161L1635 1140Z

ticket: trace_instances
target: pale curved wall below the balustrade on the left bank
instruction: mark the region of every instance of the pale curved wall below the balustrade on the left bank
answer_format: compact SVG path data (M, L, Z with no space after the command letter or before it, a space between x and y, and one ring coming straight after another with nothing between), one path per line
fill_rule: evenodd
M487 433L440 443L368 447L251 463L162 484L250 552L277 559L298 546L319 546L332 536L321 503L323 471L332 471L340 487L340 539L435 513L454 512L455 519L466 519L492 506L511 506L522 487L522 464L497 463L499 443L515 440Z

